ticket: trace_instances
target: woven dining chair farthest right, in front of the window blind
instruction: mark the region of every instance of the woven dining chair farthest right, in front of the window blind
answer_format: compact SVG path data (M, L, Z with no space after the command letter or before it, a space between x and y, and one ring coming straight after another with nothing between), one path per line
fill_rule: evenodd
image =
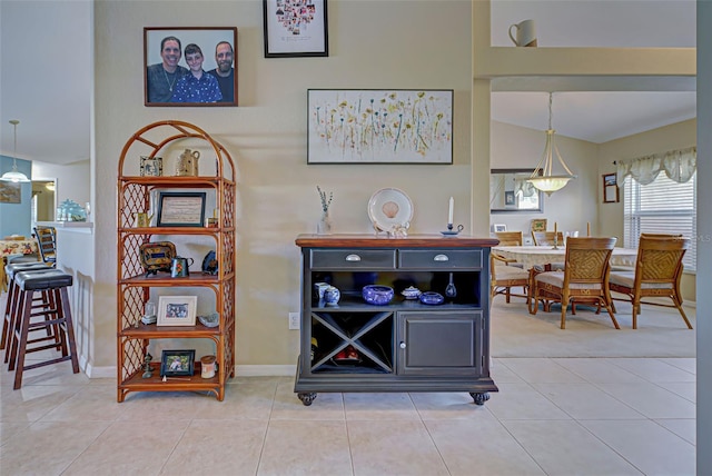
M682 258L689 247L690 238L683 238L681 235L642 234L637 245L635 270L611 272L610 290L626 296L626 298L616 297L615 299L627 300L633 305L633 329L637 329L641 304L674 307L688 325L688 329L692 329L682 309L680 292ZM672 299L673 304L643 301L643 298L649 297L666 297Z

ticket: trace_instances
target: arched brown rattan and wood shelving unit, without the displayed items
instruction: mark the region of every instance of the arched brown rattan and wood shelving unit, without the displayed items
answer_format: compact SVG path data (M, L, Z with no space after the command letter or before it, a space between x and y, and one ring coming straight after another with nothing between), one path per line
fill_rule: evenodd
M171 146L208 147L214 157L202 153L206 163L215 160L215 175L171 177L164 169L161 177L140 177L139 160L161 157ZM207 146L206 146L207 142ZM196 146L197 145L197 146ZM179 149L170 152L179 155ZM206 165L204 163L204 166ZM165 166L168 163L165 163ZM201 167L201 171L210 167ZM130 391L202 390L225 398L225 384L235 376L235 165L228 151L202 129L182 121L159 121L138 130L126 142L118 167L117 227L117 400L123 401ZM165 189L215 190L218 210L217 227L135 227L136 214L148 212L151 192ZM155 211L155 210L151 210ZM139 247L144 242L170 240L171 236L215 242L218 274L191 271L188 277L171 278L168 272L146 276L140 262ZM197 260L196 260L197 261ZM144 306L152 288L199 287L215 294L215 309L219 314L217 327L144 325ZM154 356L154 376L142 378L145 356L152 339L211 339L216 345L217 373L214 378L200 377L200 363L192 377L186 380L162 381L160 356Z

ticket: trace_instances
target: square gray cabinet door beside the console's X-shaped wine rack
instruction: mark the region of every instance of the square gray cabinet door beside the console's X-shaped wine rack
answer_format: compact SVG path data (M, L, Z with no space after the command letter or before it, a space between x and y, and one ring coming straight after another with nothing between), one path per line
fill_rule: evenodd
M482 311L398 313L398 375L482 376Z

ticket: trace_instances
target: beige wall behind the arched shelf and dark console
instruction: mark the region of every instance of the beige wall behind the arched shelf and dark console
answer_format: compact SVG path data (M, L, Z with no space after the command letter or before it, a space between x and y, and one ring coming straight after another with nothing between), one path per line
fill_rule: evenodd
M301 232L319 218L316 186L334 191L335 232L369 232L372 194L397 187L413 200L412 232L437 232L455 197L455 221L471 227L471 3L332 1L329 57L265 59L261 1L97 2L95 367L116 363L116 176L139 128L181 119L209 131L238 169L236 296L238 365L294 365ZM407 19L407 20L406 20ZM238 27L237 108L146 108L142 28ZM307 88L454 89L452 166L307 166ZM117 113L120 111L120 113ZM138 157L136 158L138 160ZM478 218L486 229L486 215ZM201 258L201 257L197 257Z

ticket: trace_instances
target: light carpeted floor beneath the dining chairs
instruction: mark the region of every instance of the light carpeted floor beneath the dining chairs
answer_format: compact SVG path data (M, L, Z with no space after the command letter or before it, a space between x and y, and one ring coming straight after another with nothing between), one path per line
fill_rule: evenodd
M492 304L492 357L695 357L695 331L676 309L643 305L633 330L631 305L616 300L615 306L621 329L605 310L596 315L595 308L577 306L575 316L568 309L562 330L558 305L531 315L524 299L513 297L506 304L497 296ZM695 309L684 310L695 327Z

